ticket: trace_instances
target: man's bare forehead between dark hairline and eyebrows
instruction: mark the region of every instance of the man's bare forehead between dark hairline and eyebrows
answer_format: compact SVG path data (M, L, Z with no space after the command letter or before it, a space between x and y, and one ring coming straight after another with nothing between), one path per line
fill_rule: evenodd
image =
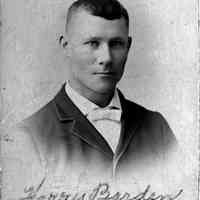
M128 27L124 18L107 20L80 10L71 17L67 34L69 37L125 37L128 35Z

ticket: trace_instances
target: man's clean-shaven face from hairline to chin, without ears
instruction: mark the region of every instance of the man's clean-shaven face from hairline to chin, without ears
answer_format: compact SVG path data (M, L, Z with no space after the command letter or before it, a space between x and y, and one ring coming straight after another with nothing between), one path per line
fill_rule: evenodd
M80 93L113 92L131 44L125 19L106 20L81 10L70 20L67 38L72 86Z

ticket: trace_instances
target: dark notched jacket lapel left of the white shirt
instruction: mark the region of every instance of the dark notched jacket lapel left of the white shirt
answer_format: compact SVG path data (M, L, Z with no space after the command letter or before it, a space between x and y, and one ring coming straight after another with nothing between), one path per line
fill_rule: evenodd
M108 157L113 157L108 143L67 96L65 85L56 95L54 102L58 119L64 130L59 133L60 136L72 133Z

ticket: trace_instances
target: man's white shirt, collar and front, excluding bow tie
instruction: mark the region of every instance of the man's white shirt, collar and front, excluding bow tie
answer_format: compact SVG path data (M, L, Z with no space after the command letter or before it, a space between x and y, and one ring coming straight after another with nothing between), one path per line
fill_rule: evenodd
M87 117L87 115L94 109L105 109L100 108L98 105L94 104L87 98L80 95L78 92L76 92L70 85L67 83L65 85L65 91L69 98L72 100L72 102L79 108L79 110ZM120 99L117 90L114 92L114 96L109 103L108 106L110 107L114 106L118 109L121 109ZM88 117L87 117L88 118ZM91 121L88 119L93 126L101 133L101 135L104 137L104 139L107 141L107 143L110 145L113 152L116 151L117 145L119 143L120 138L120 132L121 132L121 121L112 121L108 119L102 119L98 121Z

